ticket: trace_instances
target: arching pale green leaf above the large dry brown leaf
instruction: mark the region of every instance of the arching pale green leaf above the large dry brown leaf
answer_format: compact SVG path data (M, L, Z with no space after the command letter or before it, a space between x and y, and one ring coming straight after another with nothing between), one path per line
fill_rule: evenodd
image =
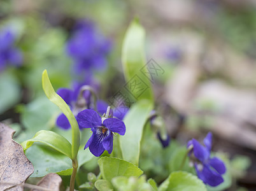
M26 150L34 142L45 143L46 145L72 159L71 144L66 138L60 136L56 132L45 130L38 131L32 139L24 141L20 145L22 145L23 149Z

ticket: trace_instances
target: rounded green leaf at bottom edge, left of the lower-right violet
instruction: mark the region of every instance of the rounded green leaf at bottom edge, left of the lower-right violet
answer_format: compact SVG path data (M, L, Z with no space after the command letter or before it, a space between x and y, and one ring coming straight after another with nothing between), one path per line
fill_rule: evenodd
M176 171L160 185L159 191L206 191L206 186L197 176L185 171Z

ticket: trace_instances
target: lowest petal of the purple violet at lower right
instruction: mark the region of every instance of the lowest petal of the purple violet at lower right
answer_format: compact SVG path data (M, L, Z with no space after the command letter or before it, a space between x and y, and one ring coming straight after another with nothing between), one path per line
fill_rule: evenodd
M204 165L203 170L199 171L198 166L196 165L196 173L198 178L203 180L205 184L210 185L211 187L217 187L224 181L222 176L215 171L212 171L210 167Z

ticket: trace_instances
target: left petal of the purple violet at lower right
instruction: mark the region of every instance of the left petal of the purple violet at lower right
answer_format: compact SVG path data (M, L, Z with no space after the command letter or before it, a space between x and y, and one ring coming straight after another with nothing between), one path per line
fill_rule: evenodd
M210 152L207 148L205 148L203 145L201 145L196 139L192 139L193 143L193 152L195 157L200 160L201 162L204 162L210 157Z

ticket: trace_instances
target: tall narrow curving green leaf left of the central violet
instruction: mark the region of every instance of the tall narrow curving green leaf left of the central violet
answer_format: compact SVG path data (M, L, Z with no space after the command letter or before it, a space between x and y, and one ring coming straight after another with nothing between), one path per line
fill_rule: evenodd
M69 124L72 127L72 159L75 159L80 146L80 131L76 118L70 110L68 104L66 104L65 101L54 91L46 70L43 71L42 84L43 90L45 91L48 99L50 99L52 103L56 104L69 120Z

